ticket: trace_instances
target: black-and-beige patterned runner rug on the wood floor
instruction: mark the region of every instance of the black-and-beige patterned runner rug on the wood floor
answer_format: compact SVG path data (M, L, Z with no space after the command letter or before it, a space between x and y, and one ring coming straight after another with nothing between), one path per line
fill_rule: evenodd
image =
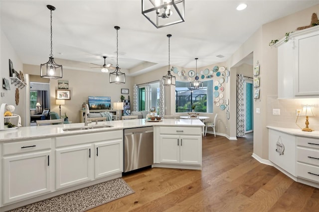
M117 178L9 212L84 212L134 193L122 178Z

